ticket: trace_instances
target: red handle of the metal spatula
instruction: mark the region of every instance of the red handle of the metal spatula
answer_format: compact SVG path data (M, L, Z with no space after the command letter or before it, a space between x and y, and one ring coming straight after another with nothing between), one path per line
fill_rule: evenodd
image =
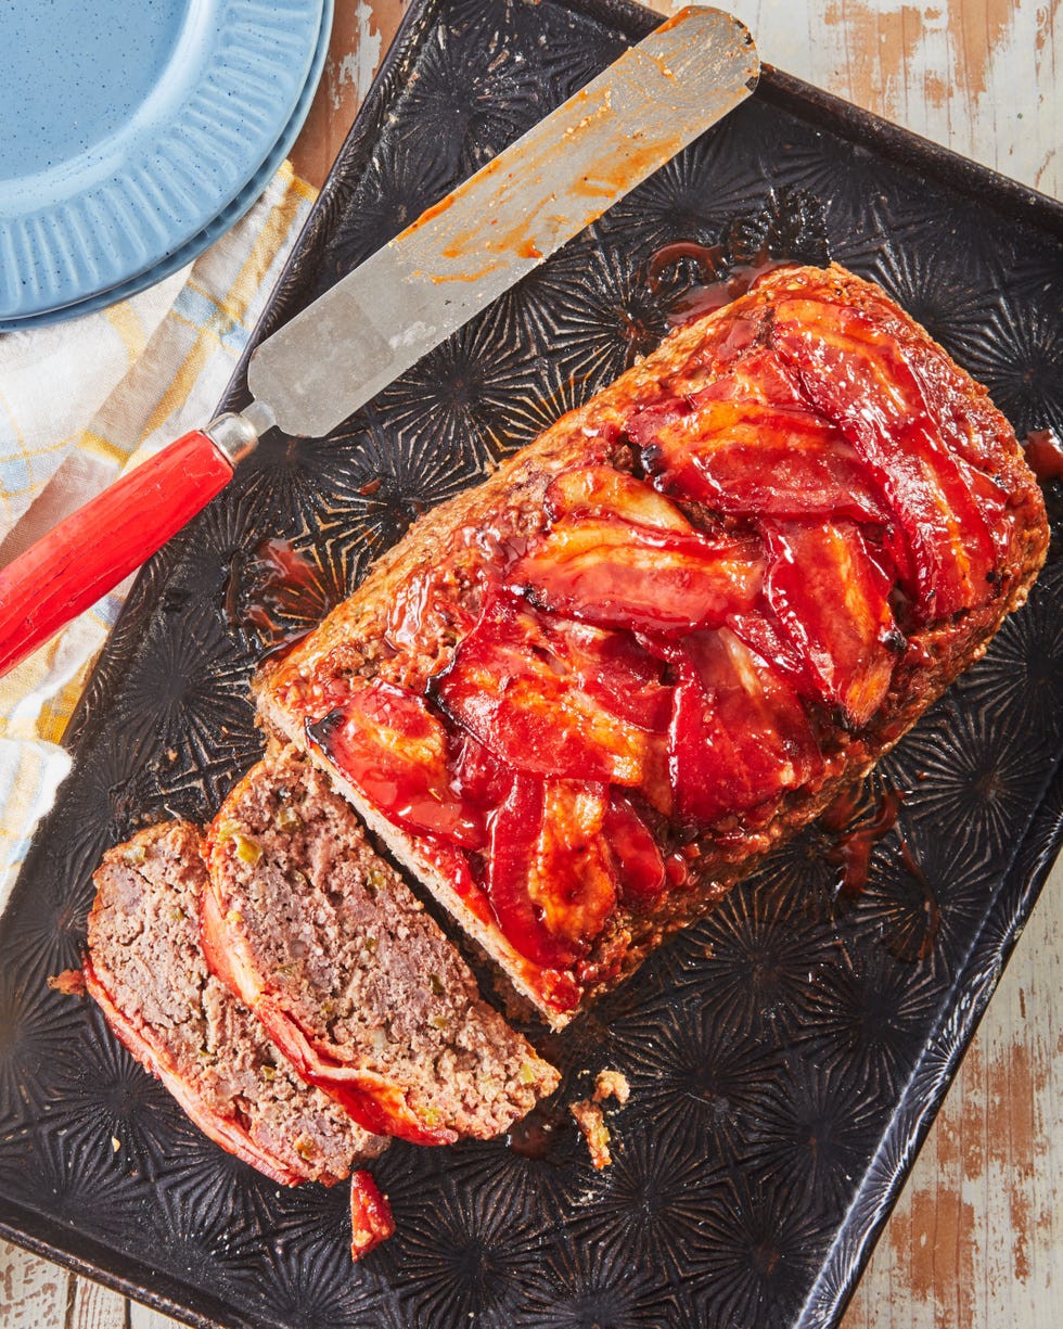
M117 586L231 478L210 436L186 433L0 570L0 674Z

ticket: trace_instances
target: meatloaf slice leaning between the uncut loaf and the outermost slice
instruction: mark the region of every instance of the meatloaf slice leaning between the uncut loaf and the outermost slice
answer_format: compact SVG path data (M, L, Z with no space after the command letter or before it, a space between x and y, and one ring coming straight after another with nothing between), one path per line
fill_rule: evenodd
M557 1086L298 750L248 772L209 843L211 964L359 1120L423 1144L490 1138Z

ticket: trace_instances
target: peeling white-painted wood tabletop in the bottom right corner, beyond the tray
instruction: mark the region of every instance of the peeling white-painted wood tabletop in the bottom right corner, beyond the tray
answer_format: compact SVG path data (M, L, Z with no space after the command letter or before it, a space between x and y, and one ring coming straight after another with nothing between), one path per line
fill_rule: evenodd
M844 1329L1063 1322L1063 868L1044 886Z

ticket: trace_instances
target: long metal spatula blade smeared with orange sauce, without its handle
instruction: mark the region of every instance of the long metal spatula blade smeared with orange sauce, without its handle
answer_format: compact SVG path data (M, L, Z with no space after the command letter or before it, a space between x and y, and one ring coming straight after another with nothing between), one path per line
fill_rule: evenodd
M251 392L319 437L756 86L748 31L690 8L632 47L264 342Z

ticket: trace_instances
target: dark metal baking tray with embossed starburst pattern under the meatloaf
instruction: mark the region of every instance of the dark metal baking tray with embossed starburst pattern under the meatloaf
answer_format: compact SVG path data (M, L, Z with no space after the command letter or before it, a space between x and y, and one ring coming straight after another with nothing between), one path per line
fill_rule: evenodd
M415 4L255 339L656 21L610 0ZM267 642L226 611L254 550L287 537L319 609L340 597L417 512L656 342L694 278L648 292L662 243L874 276L1023 435L1063 427L1062 237L1051 201L767 70L330 439L270 439L137 581L4 918L0 1232L195 1324L834 1324L1060 840L1059 560L873 777L864 811L886 784L908 797L862 894L836 894L813 828L550 1041L565 1102L603 1066L631 1082L601 1174L571 1130L542 1159L396 1146L375 1171L397 1235L352 1267L345 1188L278 1189L223 1155L45 979L78 957L102 849L209 815L258 756Z

